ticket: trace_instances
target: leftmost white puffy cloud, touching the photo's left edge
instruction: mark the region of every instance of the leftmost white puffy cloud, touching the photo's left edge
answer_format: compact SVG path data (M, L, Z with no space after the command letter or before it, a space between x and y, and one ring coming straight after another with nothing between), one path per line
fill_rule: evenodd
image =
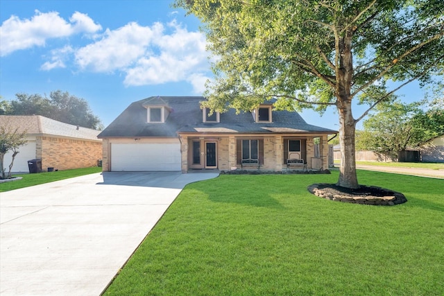
M44 46L46 40L51 38L101 30L100 25L94 24L91 18L80 12L75 12L70 21L71 24L60 17L58 12L42 13L35 10L31 19L19 19L12 15L0 27L1 56L20 49Z

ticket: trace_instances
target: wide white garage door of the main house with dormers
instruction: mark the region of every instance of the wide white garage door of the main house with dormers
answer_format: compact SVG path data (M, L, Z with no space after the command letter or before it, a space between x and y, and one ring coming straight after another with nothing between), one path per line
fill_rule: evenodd
M111 171L180 171L180 143L112 143Z

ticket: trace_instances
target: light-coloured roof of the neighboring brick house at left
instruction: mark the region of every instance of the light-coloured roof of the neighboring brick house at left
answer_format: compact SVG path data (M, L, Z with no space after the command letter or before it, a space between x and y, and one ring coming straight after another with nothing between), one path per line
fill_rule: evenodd
M63 123L40 115L0 115L0 125L10 126L14 129L19 128L19 132L26 131L26 134L45 134L101 141L97 139L99 130L77 127L76 125Z

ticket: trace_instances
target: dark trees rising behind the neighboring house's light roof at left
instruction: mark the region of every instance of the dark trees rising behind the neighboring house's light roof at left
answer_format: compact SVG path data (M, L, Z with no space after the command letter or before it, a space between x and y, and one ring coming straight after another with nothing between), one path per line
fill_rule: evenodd
M50 119L79 125L85 128L101 130L103 125L98 116L89 109L87 101L57 90L49 98L40 94L16 94L16 99L1 107L5 114L42 115Z

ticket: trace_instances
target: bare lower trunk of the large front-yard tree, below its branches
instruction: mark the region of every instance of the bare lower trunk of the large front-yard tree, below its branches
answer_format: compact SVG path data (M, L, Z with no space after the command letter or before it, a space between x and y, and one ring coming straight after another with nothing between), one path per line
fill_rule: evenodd
M336 185L357 189L359 184L355 160L355 119L352 116L351 102L338 106L338 112L341 165L339 166L339 180Z

